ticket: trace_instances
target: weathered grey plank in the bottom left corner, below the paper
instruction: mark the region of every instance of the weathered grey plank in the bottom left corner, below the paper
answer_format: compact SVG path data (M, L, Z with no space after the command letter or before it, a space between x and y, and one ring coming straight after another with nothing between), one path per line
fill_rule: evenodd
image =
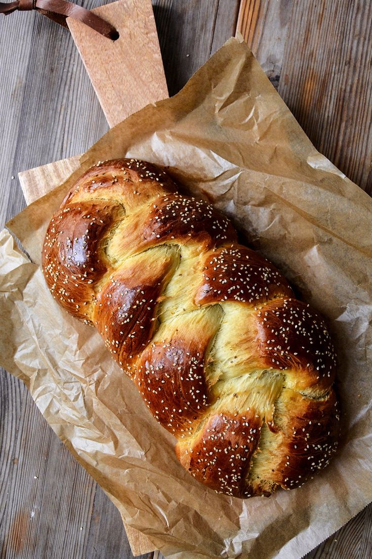
M5 373L0 399L1 557L85 557L95 482Z

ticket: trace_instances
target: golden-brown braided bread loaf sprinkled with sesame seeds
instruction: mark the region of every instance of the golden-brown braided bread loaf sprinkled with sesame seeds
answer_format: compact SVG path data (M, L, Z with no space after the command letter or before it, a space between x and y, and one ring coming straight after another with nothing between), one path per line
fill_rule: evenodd
M52 217L43 267L197 480L244 498L327 465L339 417L322 318L165 172L136 159L89 169Z

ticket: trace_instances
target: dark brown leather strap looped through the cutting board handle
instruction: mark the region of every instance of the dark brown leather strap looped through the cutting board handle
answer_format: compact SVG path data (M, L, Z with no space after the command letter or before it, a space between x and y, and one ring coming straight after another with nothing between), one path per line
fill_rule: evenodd
M117 30L111 23L96 16L95 13L86 10L82 6L71 4L71 2L66 2L66 0L16 0L16 2L9 2L7 4L0 2L0 13L3 13L4 16L16 10L36 10L42 13L42 15L49 17L50 20L66 27L66 29L68 29L66 18L73 17L75 20L82 21L85 25L89 25L95 31L113 41L119 37Z

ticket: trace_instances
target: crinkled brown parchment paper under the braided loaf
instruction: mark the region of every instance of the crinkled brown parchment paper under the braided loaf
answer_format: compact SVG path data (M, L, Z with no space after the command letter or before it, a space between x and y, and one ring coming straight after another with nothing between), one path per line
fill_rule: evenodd
M89 122L86 123L89 126ZM339 355L342 444L293 491L218 495L179 465L95 329L52 299L40 269L47 223L98 160L136 157L205 194L329 320ZM1 360L133 528L173 559L299 558L372 500L372 200L319 154L244 43L230 39L175 97L103 136L81 168L1 236Z

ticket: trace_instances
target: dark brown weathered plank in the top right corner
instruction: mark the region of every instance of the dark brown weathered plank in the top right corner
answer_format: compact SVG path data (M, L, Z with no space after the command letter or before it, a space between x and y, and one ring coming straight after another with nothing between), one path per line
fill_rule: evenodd
M279 93L313 144L372 193L372 2L293 2Z

